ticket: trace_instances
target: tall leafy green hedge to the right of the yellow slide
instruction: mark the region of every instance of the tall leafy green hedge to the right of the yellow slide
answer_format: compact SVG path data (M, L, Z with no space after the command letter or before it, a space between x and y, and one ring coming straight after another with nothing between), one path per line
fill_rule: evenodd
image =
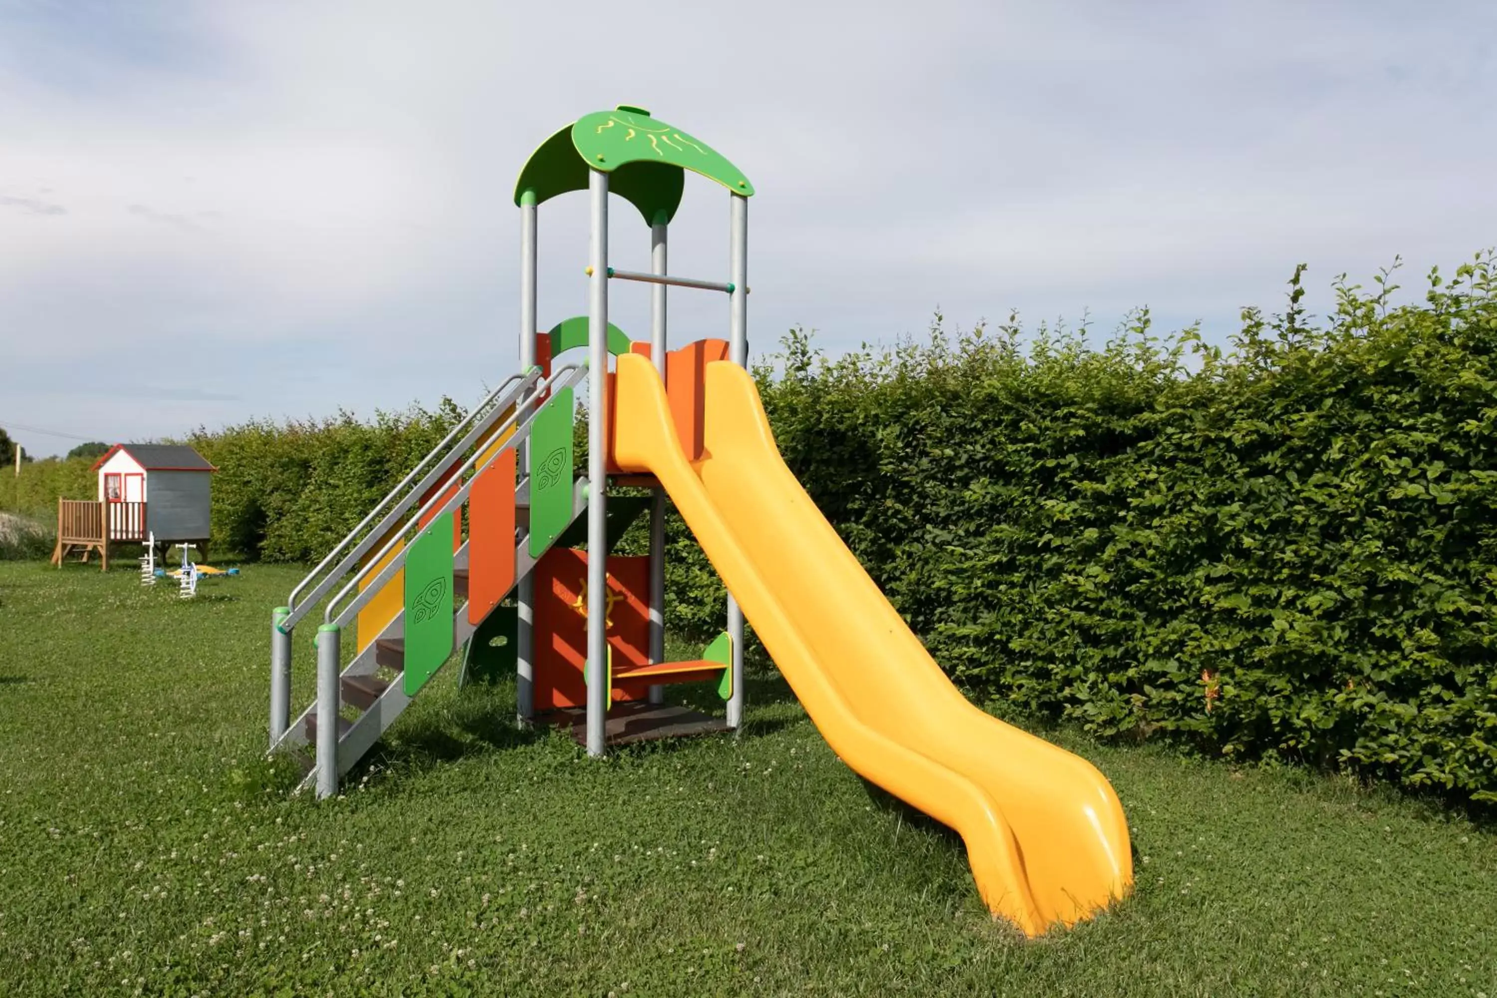
M1147 313L1100 350L1021 350L1012 322L835 361L792 335L766 408L981 696L1497 800L1490 257L1421 307L1338 283L1323 326L1299 280L1229 356Z

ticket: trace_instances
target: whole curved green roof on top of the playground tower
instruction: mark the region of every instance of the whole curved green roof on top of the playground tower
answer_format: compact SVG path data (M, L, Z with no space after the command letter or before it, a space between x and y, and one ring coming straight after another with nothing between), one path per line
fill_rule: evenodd
M717 181L748 198L753 184L713 147L650 117L642 108L584 115L540 144L515 183L515 203L549 200L587 189L588 168L609 175L609 192L626 199L647 224L669 221L681 205L683 171Z

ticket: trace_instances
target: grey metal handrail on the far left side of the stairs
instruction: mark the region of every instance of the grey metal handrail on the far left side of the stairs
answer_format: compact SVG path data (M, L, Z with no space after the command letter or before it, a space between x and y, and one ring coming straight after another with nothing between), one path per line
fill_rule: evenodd
M380 500L368 515L359 521L358 527L349 531L349 534L340 540L326 557L317 563L317 567L307 573L296 588L290 591L286 597L286 613L278 619L278 627L283 631L289 631L296 625L296 621L302 619L310 613L322 599L332 591L332 588L346 576L359 560L370 552L391 530L394 530L401 518L410 510L416 501L427 494L428 489L436 486L442 476L445 476L458 458L467 452L469 447L476 444L494 423L515 405L524 392L536 383L540 377L540 368L531 368L525 374L512 374L504 380L497 389L490 392L488 398L473 407L464 419L461 419L448 435L433 447L425 458L416 462L406 477L389 491L383 500ZM515 411L519 411L518 408ZM466 431L466 432L464 432ZM461 434L461 438L458 438ZM457 440L457 443L454 443ZM436 464L433 465L433 461ZM425 473L424 473L425 471ZM424 474L422 474L424 473ZM421 480L416 482L416 476ZM412 485L415 482L415 485ZM398 500L398 501L397 501ZM394 506L391 506L394 503ZM379 524L370 527L376 518ZM340 557L341 555L341 557ZM334 564L335 563L335 564ZM331 567L329 567L331 566ZM320 582L316 582L320 579ZM301 594L316 582L305 597Z

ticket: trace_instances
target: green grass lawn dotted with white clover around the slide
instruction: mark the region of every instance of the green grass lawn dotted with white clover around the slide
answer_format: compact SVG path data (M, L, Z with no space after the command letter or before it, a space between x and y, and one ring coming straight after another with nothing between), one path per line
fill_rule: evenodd
M1052 735L1117 787L1138 887L1025 943L960 841L870 793L772 676L741 739L599 763L445 672L344 798L290 798L259 754L298 576L189 603L129 567L0 563L0 994L1497 998L1491 830Z

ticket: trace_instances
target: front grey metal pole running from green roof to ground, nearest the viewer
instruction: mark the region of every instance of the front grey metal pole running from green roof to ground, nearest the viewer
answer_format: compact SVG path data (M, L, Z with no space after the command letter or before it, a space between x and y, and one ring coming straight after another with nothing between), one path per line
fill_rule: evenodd
M587 754L600 757L608 723L608 174L588 171L593 238L587 301Z

